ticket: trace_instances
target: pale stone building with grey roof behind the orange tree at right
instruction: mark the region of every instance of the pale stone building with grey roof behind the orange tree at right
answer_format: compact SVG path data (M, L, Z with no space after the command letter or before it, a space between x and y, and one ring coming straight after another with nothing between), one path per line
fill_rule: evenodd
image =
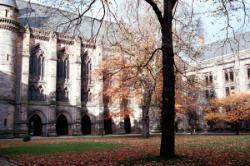
M211 98L250 92L250 32L206 45L201 58L190 63L187 76L201 83L198 112L204 128L202 104ZM243 122L242 127L250 128L250 123Z

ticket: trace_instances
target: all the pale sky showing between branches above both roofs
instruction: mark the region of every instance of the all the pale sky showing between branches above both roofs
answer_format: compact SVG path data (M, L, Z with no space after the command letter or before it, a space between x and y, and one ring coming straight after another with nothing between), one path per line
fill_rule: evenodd
M28 1L28 0L27 0ZM31 2L44 4L44 2L51 1L52 4L54 2L59 2L58 0L30 0ZM70 0L68 0L70 2ZM80 0L79 0L80 1ZM226 17L222 14L217 15L217 7L216 4L209 0L184 0L190 6L194 6L194 13L196 17L199 17L202 21L202 27L204 32L205 43L215 42L217 40L221 40L226 37L227 31L225 28L226 25ZM116 0L117 3L113 3L112 7L116 10L116 12L120 12L123 9L122 3L124 0ZM192 2L194 2L192 4ZM246 8L250 9L250 0L246 0ZM54 4L55 5L55 4ZM242 6L242 4L235 3L233 7ZM89 13L88 16L91 17L100 17L102 11L100 10L100 4L96 4L93 9ZM249 11L247 11L249 12ZM250 12L249 12L250 13ZM246 31L250 31L250 18L246 17L245 23L243 22L244 12L242 9L238 11L230 12L230 24L233 27L235 33L243 33ZM229 37L232 36L232 29L229 28Z

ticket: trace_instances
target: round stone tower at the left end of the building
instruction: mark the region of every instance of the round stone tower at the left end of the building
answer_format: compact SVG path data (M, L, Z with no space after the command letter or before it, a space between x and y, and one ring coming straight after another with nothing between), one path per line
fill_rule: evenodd
M20 30L15 0L0 0L0 135L14 134L17 37Z

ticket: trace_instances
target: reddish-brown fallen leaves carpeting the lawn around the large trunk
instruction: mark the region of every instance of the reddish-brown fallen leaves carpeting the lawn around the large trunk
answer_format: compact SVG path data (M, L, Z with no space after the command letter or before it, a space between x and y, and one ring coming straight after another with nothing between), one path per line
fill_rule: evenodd
M238 139L242 138L242 139ZM238 139L238 140L237 140ZM245 140L244 140L245 139ZM89 139L69 139L64 141L87 141ZM108 151L89 151L60 153L54 155L20 155L9 156L12 165L37 165L37 166L110 166L110 165L237 165L245 166L250 163L249 136L190 136L177 137L176 158L162 159L159 156L160 137L150 139L142 138L93 138L92 141L128 144ZM46 142L46 141L45 141ZM43 143L45 143L43 142ZM39 143L35 142L35 143ZM221 144L221 145L219 145ZM197 146L193 146L197 145ZM208 146L205 146L208 145ZM230 145L230 146L229 146ZM223 149L229 146L230 149ZM244 150L234 151L239 146Z

